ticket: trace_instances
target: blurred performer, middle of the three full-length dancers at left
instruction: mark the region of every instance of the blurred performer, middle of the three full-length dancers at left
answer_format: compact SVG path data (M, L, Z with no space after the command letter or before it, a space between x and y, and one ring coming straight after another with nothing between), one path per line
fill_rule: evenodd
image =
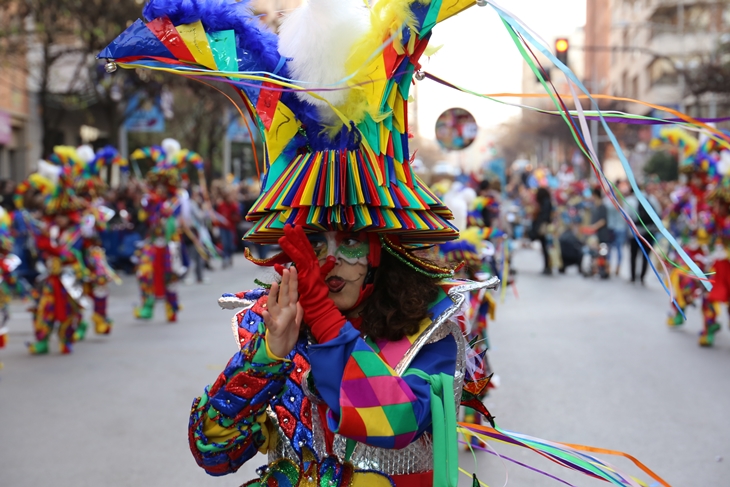
M126 169L127 162L111 146L96 153L90 146L81 146L76 149L76 156L75 190L87 203L81 218L81 248L84 265L89 271L84 294L93 302L91 321L94 331L108 335L113 323L107 315L108 284L121 284L121 279L107 262L106 251L101 244L100 234L106 231L107 223L114 216L114 210L105 205L103 198L109 188L101 177L101 169L113 166ZM86 328L87 324L82 320L76 331L76 341L84 339Z

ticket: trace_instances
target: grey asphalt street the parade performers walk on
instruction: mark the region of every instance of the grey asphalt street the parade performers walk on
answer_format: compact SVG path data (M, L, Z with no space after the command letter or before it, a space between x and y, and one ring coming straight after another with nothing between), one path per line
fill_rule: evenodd
M506 430L621 450L672 486L728 485L730 478L730 333L713 349L697 346L700 316L680 330L664 324L667 297L655 278L646 287L625 278L587 280L539 275L539 255L515 255L519 298L508 290L491 325L490 360L500 387L486 400ZM3 487L237 486L265 463L213 478L188 451L194 396L235 352L223 292L250 288L259 275L238 259L210 274L208 285L180 286L179 323L132 319L133 277L114 288L109 337L89 333L71 356L56 347L31 357L24 305L12 306L8 347L0 351L0 485ZM533 453L501 444L498 452L560 475L573 485L606 485L574 475ZM462 453L471 472L472 457ZM651 479L621 458L603 459ZM496 458L477 453L479 477L506 482ZM509 485L560 485L507 462ZM462 485L471 485L463 477Z

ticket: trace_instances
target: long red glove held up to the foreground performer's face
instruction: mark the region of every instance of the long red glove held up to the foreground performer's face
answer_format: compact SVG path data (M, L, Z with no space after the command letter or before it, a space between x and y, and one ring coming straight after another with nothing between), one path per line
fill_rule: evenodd
M312 244L301 226L285 226L279 245L297 267L299 302L304 309L304 322L309 325L317 343L336 338L347 320L329 298L329 288L324 282L335 266L335 259L328 258L320 267Z

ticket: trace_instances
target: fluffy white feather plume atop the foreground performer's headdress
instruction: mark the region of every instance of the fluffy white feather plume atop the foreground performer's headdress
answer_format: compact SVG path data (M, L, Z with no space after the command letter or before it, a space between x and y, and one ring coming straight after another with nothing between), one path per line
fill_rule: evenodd
M370 26L370 11L362 0L309 0L292 11L279 29L279 52L290 59L291 77L304 88L338 88L347 77L345 63L353 46ZM337 106L349 90L318 91ZM334 115L329 106L306 93L297 96L319 107L325 119Z

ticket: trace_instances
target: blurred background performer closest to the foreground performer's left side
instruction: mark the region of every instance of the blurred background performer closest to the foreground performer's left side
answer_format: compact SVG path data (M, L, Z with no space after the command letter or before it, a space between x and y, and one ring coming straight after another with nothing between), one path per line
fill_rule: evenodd
M155 302L161 299L165 301L167 321L175 323L180 310L176 286L187 271L180 218L186 193L180 190L180 171L172 159L180 144L165 139L162 147L145 150L158 163L147 173L149 192L142 199L140 221L147 225L147 236L137 252L136 273L142 301L134 309L134 316L151 319Z

